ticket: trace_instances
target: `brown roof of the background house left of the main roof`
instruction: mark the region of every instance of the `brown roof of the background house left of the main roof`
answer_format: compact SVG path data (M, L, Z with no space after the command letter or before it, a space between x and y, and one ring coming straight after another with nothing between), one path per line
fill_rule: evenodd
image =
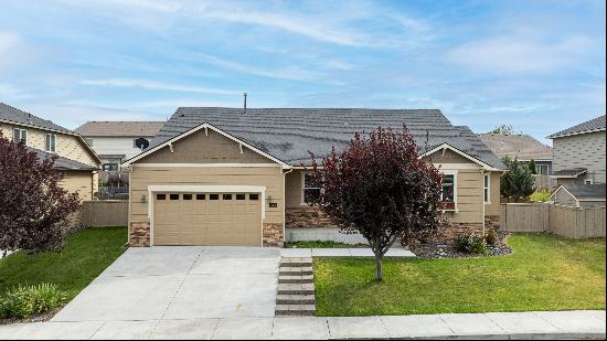
M75 131L86 137L151 137L162 125L163 121L87 121Z

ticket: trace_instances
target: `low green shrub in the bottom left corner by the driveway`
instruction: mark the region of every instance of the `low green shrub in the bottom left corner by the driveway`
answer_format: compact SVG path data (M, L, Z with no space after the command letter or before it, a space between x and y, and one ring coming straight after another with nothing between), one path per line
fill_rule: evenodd
M0 318L26 318L60 307L67 295L56 285L19 286L0 297Z

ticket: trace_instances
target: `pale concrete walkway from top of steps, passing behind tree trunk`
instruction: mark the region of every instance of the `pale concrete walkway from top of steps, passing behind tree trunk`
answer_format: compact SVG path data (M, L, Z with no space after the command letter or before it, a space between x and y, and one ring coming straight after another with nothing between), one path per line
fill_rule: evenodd
M280 256L285 258L303 257L374 257L371 248L280 248ZM405 248L391 248L385 257L415 257Z

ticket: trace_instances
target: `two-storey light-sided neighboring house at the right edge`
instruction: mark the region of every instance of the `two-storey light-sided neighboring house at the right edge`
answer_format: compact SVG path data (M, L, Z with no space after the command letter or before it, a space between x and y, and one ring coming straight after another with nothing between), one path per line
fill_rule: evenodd
M590 187L605 184L605 115L553 134L549 138L552 139L554 150L552 177L558 185L552 196L555 203L571 204L571 199L567 200L566 196L574 196L577 199L576 205L586 205L588 201L581 198L601 195L605 205L605 187L603 192L600 187Z

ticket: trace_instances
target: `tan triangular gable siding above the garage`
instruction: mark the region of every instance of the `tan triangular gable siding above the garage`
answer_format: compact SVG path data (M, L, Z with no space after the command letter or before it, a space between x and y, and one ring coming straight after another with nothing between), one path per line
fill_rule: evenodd
M266 157L209 129L209 136L201 129L169 147L145 157L139 163L273 163Z

